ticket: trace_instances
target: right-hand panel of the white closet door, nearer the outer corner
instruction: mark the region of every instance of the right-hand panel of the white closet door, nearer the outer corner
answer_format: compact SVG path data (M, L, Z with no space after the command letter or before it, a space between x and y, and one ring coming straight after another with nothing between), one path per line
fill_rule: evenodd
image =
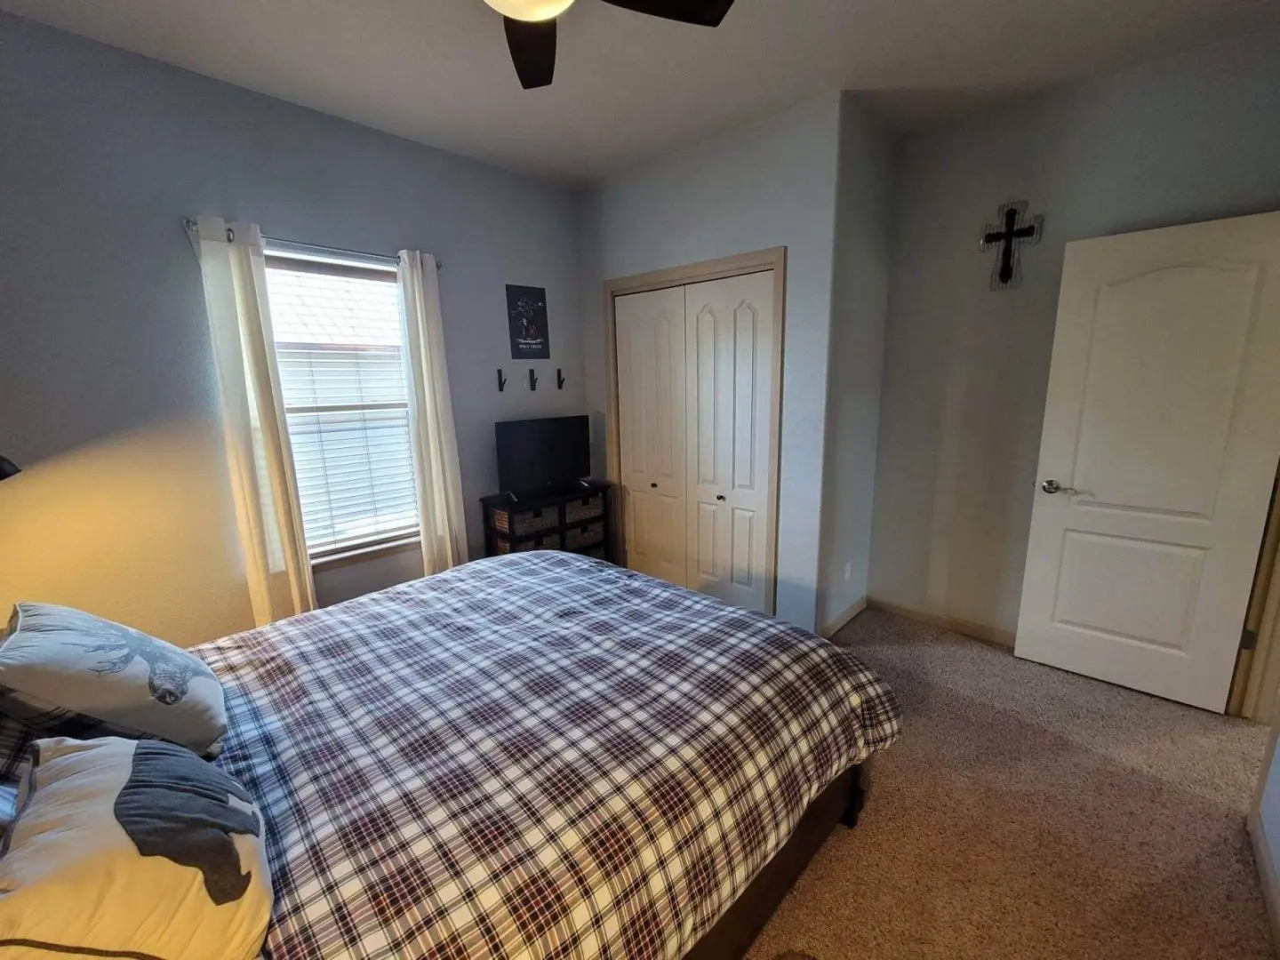
M685 288L689 586L771 611L773 271Z

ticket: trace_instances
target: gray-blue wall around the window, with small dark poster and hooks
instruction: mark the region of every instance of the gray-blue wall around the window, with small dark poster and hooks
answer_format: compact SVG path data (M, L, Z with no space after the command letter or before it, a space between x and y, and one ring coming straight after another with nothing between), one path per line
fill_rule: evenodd
M93 451L145 454L134 486L148 495L137 500L165 504L163 524L145 506L116 516L96 556L0 566L0 603L17 591L88 596L106 616L184 643L250 622L183 216L252 220L268 237L349 250L416 247L443 261L474 550L475 499L497 486L493 421L584 412L576 205L566 188L5 14L0 90L0 451L33 467L20 477L26 498L40 472L56 472L46 486L63 492L38 525L24 499L23 530L77 535L58 524L92 494ZM552 360L538 364L535 394L529 365L509 360L507 283L548 291ZM502 394L498 366L511 379ZM568 378L563 392L556 367ZM179 448L174 433L189 443ZM6 499L0 490L0 534ZM156 585L141 585L146 577ZM77 584L91 580L90 596Z

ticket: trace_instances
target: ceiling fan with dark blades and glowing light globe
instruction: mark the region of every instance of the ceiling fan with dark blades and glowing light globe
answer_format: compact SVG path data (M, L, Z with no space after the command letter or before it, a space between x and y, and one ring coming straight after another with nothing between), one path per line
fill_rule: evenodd
M556 76L556 18L575 0L484 0L503 15L507 46L525 90L547 87ZM623 10L666 20L718 27L733 0L604 0Z

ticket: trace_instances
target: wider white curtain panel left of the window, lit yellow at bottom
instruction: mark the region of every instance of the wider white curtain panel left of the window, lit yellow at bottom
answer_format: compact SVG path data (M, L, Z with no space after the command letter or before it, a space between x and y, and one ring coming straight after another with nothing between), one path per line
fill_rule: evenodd
M253 224L189 224L205 282L227 462L253 620L315 609L293 452L280 402L262 236Z

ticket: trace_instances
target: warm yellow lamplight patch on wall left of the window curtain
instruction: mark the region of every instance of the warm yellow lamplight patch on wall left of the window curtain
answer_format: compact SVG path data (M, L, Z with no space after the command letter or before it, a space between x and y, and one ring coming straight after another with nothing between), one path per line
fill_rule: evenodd
M19 466L0 484L0 612L60 603L183 646L253 625L216 426L164 421Z

